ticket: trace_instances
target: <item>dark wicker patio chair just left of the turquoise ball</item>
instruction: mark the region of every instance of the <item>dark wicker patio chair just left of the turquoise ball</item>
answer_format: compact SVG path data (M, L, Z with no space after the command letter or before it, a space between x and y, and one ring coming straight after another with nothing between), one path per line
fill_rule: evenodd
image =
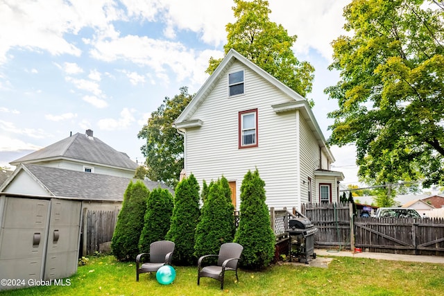
M163 265L171 265L173 260L174 243L172 241L155 241L150 245L149 253L138 254L136 257L136 281L139 281L139 274L144 272L157 272ZM142 258L149 256L144 263Z

